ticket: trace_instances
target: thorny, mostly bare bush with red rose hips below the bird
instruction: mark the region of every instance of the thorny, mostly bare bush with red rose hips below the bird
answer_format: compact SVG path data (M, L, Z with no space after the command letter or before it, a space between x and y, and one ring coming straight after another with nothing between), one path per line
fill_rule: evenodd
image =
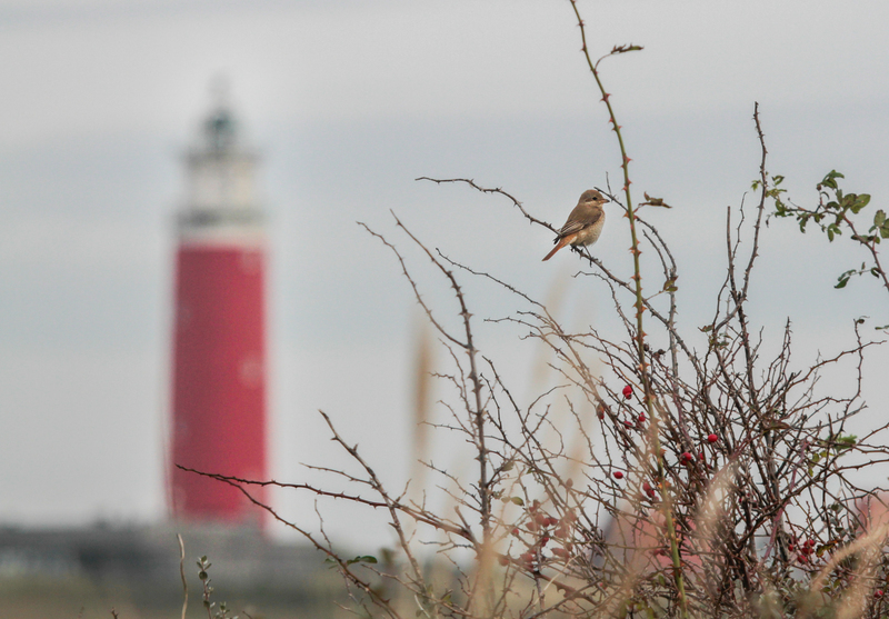
M448 351L451 370L438 378L453 389L453 398L443 402L450 422L436 430L458 432L472 446L476 472L469 481L427 463L449 485L452 509L411 501L389 489L322 412L333 439L360 466L358 476L340 473L356 490L290 487L383 508L398 547L380 558L346 556L322 531L272 513L328 553L359 612L368 616L885 615L882 548L889 519L882 516L881 496L853 479L887 461L889 449L880 439L886 426L867 437L848 429L865 410L861 368L873 342L862 337L862 320L850 321L853 346L798 365L790 358L789 321L771 353L747 311L767 208L775 204L778 216L820 219L782 201L780 177L767 172L755 108L762 147L758 201L752 213L728 209L725 281L712 319L700 329L703 348L696 349L700 333L677 327L679 272L669 243L643 218L647 209L669 206L647 194L641 202L631 198L631 160L577 18L586 61L618 139L623 187L601 191L612 212L626 214L632 277L621 279L586 248L573 251L589 268L581 274L610 293L622 332L567 330L545 303L432 251L396 217L400 233L453 292L460 323L451 329L424 300L398 247L366 227L397 258ZM617 47L608 56L639 49ZM506 198L530 223L557 232L501 189L468 179L427 180ZM849 209L860 201L855 197ZM840 196L837 208L843 203ZM886 281L877 251L879 238L886 238L882 228L867 238L856 234L870 243L875 274ZM742 238L749 241L747 252ZM643 268L643 249L657 256L653 268ZM515 297L515 313L501 320L548 348L561 386L527 403L513 396L473 337L471 302L461 287L461 278L469 277ZM849 273L843 277L842 283ZM666 343L656 348L653 341ZM822 372L847 361L857 376L848 392L822 393L817 388ZM569 415L560 418L557 407ZM257 483L211 477L248 496ZM362 489L374 496L360 495Z

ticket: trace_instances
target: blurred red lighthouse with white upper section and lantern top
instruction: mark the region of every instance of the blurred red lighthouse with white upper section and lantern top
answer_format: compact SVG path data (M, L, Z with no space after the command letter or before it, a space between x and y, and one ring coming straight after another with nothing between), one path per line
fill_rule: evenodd
M226 106L187 156L178 213L170 508L174 518L259 523L238 489L176 465L266 479L266 250L257 157ZM264 499L261 488L251 493Z

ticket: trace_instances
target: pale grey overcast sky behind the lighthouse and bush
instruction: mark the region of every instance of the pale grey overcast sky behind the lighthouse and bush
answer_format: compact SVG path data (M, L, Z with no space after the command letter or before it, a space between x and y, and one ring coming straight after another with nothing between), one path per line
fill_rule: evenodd
M595 56L646 48L605 61L602 76L636 196L676 207L655 220L680 260L689 328L712 310L726 207L757 177L755 101L769 168L798 202L836 168L886 208L885 2L580 8ZM263 153L274 477L339 461L314 412L323 408L403 482L418 317L391 256L354 222L398 238L392 209L453 258L538 297L561 279L572 316L607 315L603 290L568 278L579 264L567 252L540 262L551 238L508 203L413 180L473 178L560 224L619 163L579 50L567 0L0 1L0 525L164 513L171 218L181 152L217 76ZM625 237L613 217L596 253L623 264ZM859 315L889 323L875 282L832 288L863 254L789 221L763 243L755 319L768 338L791 317L799 359L849 346ZM448 303L441 281L422 281ZM470 290L479 318L509 311ZM496 355L512 336L481 346ZM521 376L530 363L506 365ZM876 396L887 372L879 352L866 377L873 415L886 415ZM310 506L280 500L311 518Z

